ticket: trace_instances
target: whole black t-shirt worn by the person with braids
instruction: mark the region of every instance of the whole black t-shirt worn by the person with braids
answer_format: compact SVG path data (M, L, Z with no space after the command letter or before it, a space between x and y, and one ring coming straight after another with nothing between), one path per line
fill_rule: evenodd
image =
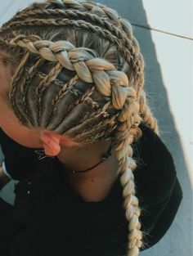
M133 143L135 177L145 247L168 231L182 201L173 157L144 124ZM13 206L15 236L5 256L122 256L127 253L128 221L119 177L100 202L86 202L67 182L57 158L38 160L34 149L20 146L0 129L7 172L20 182ZM0 209L1 210L1 209ZM3 255L4 256L4 255Z

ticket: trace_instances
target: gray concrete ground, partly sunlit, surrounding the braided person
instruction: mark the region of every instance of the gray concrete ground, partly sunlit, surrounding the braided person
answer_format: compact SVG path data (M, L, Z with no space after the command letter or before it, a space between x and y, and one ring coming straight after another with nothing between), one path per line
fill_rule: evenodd
M15 9L13 10L11 5L9 9L5 6L2 11L2 20L5 21L6 17L11 15L11 11L15 11L21 5L23 7L26 2L33 1L10 1ZM183 5L182 2L173 2L171 5L170 2L170 10L167 9L168 2L166 1L159 2L157 8L151 6L155 5L155 2L146 0L96 2L103 2L113 7L119 11L121 16L135 24L133 25L134 34L140 43L141 52L146 61L145 90L155 117L159 121L160 137L173 155L177 177L183 191L182 204L172 226L158 244L142 252L141 256L192 256L193 51L192 40L188 39L193 34L192 23L189 21L190 16L192 18L192 12L189 10L191 1L183 1ZM1 4L3 7L4 2ZM181 14L180 18L178 13ZM173 14L173 18L170 14ZM137 24L155 29L159 24L157 29L170 34L140 28ZM2 197L10 203L14 200L12 189L13 182L7 185L1 193Z

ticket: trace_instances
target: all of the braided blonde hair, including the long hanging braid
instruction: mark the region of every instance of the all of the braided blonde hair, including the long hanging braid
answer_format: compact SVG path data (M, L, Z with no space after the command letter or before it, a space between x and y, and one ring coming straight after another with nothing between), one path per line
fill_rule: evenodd
M34 2L0 29L0 52L19 65L8 98L21 124L83 143L114 137L128 220L128 256L144 246L132 143L139 124L159 135L146 100L144 60L132 25L96 2Z

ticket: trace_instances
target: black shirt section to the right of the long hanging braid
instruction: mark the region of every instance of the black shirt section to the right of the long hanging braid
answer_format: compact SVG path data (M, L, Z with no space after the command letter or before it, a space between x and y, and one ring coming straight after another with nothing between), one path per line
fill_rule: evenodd
M143 249L147 249L171 226L182 201L182 188L167 146L150 128L141 129L143 137L138 145L141 162L134 176L142 209L141 229L145 232Z

